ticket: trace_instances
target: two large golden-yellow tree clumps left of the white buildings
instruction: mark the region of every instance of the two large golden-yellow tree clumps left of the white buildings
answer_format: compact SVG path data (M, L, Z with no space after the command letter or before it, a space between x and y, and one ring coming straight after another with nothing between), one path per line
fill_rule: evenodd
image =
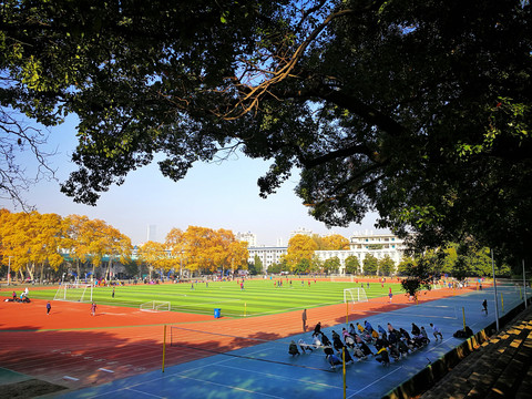
M43 279L47 268L58 270L65 258L80 276L81 268L96 268L103 278L110 278L111 265L139 267L146 265L154 269L172 269L190 273L213 273L217 269L247 267L247 243L235 238L227 229L214 231L206 227L188 226L183 232L173 228L165 243L147 242L136 252L135 259L131 239L104 221L86 216L58 214L10 213L0 209L0 259L11 272L24 274L30 279Z

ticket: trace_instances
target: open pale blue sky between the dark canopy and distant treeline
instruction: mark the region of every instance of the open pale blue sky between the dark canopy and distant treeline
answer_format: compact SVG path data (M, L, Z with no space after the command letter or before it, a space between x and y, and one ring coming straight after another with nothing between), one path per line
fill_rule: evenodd
M113 185L102 193L96 206L76 204L60 192L60 182L75 170L70 161L75 145L73 119L49 131L47 150L57 153L49 162L57 171L58 181L41 181L24 193L24 198L41 214L78 214L103 219L127 235L134 245L147 241L149 226L154 226L151 237L157 242L164 242L174 227L185 231L192 225L231 229L235 235L250 232L256 235L257 245L267 246L279 244L279 239L282 245L287 245L290 233L298 228L320 235L341 234L347 238L355 232L377 231L375 214L368 215L361 225L327 229L308 215L308 208L294 193L297 174L276 194L260 198L257 178L268 170L268 164L244 155L222 163L196 163L180 182L164 177L157 165L151 164L130 173L123 185ZM19 160L28 174L34 173L31 154L19 154ZM0 207L21 211L1 198Z

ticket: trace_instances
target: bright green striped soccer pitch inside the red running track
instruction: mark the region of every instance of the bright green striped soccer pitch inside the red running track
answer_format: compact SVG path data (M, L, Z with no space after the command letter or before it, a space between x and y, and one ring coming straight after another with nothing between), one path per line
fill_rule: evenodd
M213 309L221 308L224 317L245 317L279 314L304 308L314 308L344 303L344 289L361 287L362 283L332 283L327 280L283 278L283 286L277 287L273 279L248 279L241 289L241 280L205 282L180 284L137 284L116 286L112 298L113 287L94 287L93 300L100 305L114 305L139 308L141 304L152 300L170 301L172 310L213 314ZM310 280L310 285L308 282ZM368 299L388 296L389 288L393 295L401 295L403 290L398 283L364 283ZM31 298L53 299L54 289L30 290ZM90 289L85 293L84 301L90 300Z

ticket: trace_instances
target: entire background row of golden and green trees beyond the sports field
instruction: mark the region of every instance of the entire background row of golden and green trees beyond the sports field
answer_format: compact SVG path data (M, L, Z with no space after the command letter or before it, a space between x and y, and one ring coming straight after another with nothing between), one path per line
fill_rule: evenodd
M341 235L295 235L288 243L287 254L282 263L269 267L269 273L338 273L340 260L331 257L320 260L316 250L348 249L349 241ZM153 270L167 273L183 270L188 273L234 272L248 267L247 243L235 238L227 229L188 226L186 231L173 228L164 243L147 242L136 250L136 257L131 259L133 247L131 239L119 229L100 219L86 216L58 214L10 213L0 209L0 256L3 264L9 264L12 272L27 273L31 279L40 274L42 279L45 267L58 270L69 256L72 267L80 276L81 266L92 266L95 269L105 267L99 273L104 278L110 277L113 262L124 265L147 266L150 278ZM104 262L105 260L105 262ZM255 260L253 269L262 272L259 259ZM386 256L377 259L367 254L361 264L356 256L347 257L346 273L389 276L395 274L393 260ZM441 250L429 250L422 256L406 257L398 265L401 275L421 277L419 284L430 282L432 276L450 274L457 278L468 275L485 276L491 274L491 258L485 247L480 247L472 241L451 244ZM509 275L510 268L501 264L498 275ZM426 282L426 283L427 283Z

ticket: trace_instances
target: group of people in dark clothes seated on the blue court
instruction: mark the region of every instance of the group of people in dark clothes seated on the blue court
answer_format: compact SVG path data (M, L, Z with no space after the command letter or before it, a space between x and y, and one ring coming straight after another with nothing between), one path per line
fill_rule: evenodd
M307 350L311 352L323 348L331 368L341 365L342 357L345 357L347 365L354 362L354 358L360 361L367 359L368 356L375 356L377 361L386 366L390 364L390 357L397 361L429 342L424 327L421 326L420 328L415 323L412 323L411 332L409 334L403 328L393 328L389 323L387 329L380 325L375 329L367 320L364 326L359 323L354 326L351 323L349 330L346 328L341 329L341 335L332 330L331 342L321 331L321 324L318 323L313 332L313 342L308 344L304 339L299 339L296 344L293 340L288 352L291 356L296 356L300 355L299 349L303 354L306 354ZM374 352L369 346L374 346L376 351Z

